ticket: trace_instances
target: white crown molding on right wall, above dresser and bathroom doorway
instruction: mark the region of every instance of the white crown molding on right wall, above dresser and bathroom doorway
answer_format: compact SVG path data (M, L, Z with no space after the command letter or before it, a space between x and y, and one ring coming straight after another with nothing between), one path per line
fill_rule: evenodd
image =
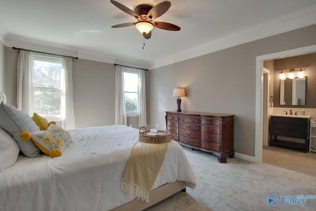
M197 47L179 52L173 56L150 63L150 69L170 65L176 62L195 58L197 56L212 53L238 44L267 38L273 35L292 31L302 27L316 24L316 6L295 12L273 21L269 21L246 30L239 31L229 36L207 42Z

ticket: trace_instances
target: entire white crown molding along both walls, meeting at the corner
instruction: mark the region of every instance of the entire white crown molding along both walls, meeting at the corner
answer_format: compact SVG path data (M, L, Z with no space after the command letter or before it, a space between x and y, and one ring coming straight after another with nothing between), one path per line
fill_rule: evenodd
M270 37L280 33L288 32L291 30L299 29L302 27L316 24L316 6L301 10L283 16L279 19L269 21L246 30L239 31L229 36L217 39L213 42L207 42L198 45L194 48L187 49L179 52L173 56L166 57L157 61L140 61L133 58L120 57L106 53L100 53L87 49L80 49L67 45L61 45L53 42L45 42L35 40L32 38L21 37L17 35L8 34L3 22L0 19L0 40L5 46L25 48L35 51L41 51L53 54L63 54L81 59L106 62L106 63L119 63L122 65L133 66L144 69L156 69L162 66L170 65L176 62L191 59L197 56L212 53L228 47L236 46L246 42L259 40L262 38Z

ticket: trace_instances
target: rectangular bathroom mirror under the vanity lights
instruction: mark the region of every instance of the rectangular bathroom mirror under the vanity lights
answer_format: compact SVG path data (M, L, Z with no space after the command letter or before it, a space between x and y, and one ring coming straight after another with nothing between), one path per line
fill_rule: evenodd
M280 105L305 105L306 77L280 80Z

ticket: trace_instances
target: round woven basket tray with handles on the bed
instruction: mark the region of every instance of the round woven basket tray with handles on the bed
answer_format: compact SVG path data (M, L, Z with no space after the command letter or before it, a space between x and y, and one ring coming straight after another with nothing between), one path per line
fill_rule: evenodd
M145 131L141 132L140 130L145 127L139 128L139 141L149 144L162 144L171 141L171 131L168 129L167 131L158 130L158 134L156 136L147 135L150 131L145 128Z

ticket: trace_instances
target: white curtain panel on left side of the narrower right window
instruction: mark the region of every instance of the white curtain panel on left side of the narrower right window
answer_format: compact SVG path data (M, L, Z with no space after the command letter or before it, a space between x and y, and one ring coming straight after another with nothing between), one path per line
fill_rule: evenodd
M124 68L117 65L116 69L116 88L115 88L115 124L125 125L126 122L126 110L124 99Z

